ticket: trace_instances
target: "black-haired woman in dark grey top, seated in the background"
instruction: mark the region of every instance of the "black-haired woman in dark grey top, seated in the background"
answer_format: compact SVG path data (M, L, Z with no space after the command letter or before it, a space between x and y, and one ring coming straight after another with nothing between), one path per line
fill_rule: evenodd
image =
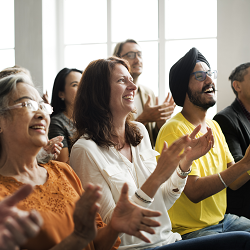
M55 78L52 91L53 113L49 127L49 139L59 135L64 136L63 148L57 160L67 163L71 150L71 138L75 131L72 123L73 103L81 76L81 70L62 69Z

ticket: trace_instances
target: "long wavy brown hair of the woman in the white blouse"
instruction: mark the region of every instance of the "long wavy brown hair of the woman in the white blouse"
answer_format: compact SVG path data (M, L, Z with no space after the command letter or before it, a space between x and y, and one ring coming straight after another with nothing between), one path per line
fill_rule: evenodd
M111 140L114 132L113 116L109 108L110 76L116 64L121 64L129 70L127 61L117 57L92 61L84 70L74 104L74 141L84 135L98 146L117 146ZM137 146L143 137L136 124L130 121L131 118L132 114L129 114L126 119L126 140Z

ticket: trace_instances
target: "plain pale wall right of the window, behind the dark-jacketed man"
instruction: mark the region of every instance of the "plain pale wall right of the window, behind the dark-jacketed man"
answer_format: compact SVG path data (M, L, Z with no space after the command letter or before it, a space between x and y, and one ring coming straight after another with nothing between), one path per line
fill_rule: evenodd
M218 0L217 110L235 98L228 77L241 63L250 62L250 0ZM206 18L209 28L209 17Z

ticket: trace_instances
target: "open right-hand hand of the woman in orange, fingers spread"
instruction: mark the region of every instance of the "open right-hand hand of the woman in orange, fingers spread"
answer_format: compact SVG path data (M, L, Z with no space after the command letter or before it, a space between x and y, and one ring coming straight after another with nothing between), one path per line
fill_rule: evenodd
M118 232L134 235L139 239L150 243L141 231L154 234L151 227L158 227L160 223L150 219L150 217L160 216L161 213L145 209L131 203L128 199L128 185L125 183L122 187L120 199L116 204L112 218L111 226Z

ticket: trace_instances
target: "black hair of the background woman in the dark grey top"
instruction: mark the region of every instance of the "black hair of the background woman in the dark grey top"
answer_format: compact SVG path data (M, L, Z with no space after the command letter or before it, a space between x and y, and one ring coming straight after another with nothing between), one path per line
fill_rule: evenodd
M65 79L71 72L79 72L82 74L82 71L79 69L63 68L58 72L55 78L51 96L51 106L53 107L53 113L51 114L51 117L64 111L66 108L65 102L58 96L58 94L60 91L63 92L65 90Z

